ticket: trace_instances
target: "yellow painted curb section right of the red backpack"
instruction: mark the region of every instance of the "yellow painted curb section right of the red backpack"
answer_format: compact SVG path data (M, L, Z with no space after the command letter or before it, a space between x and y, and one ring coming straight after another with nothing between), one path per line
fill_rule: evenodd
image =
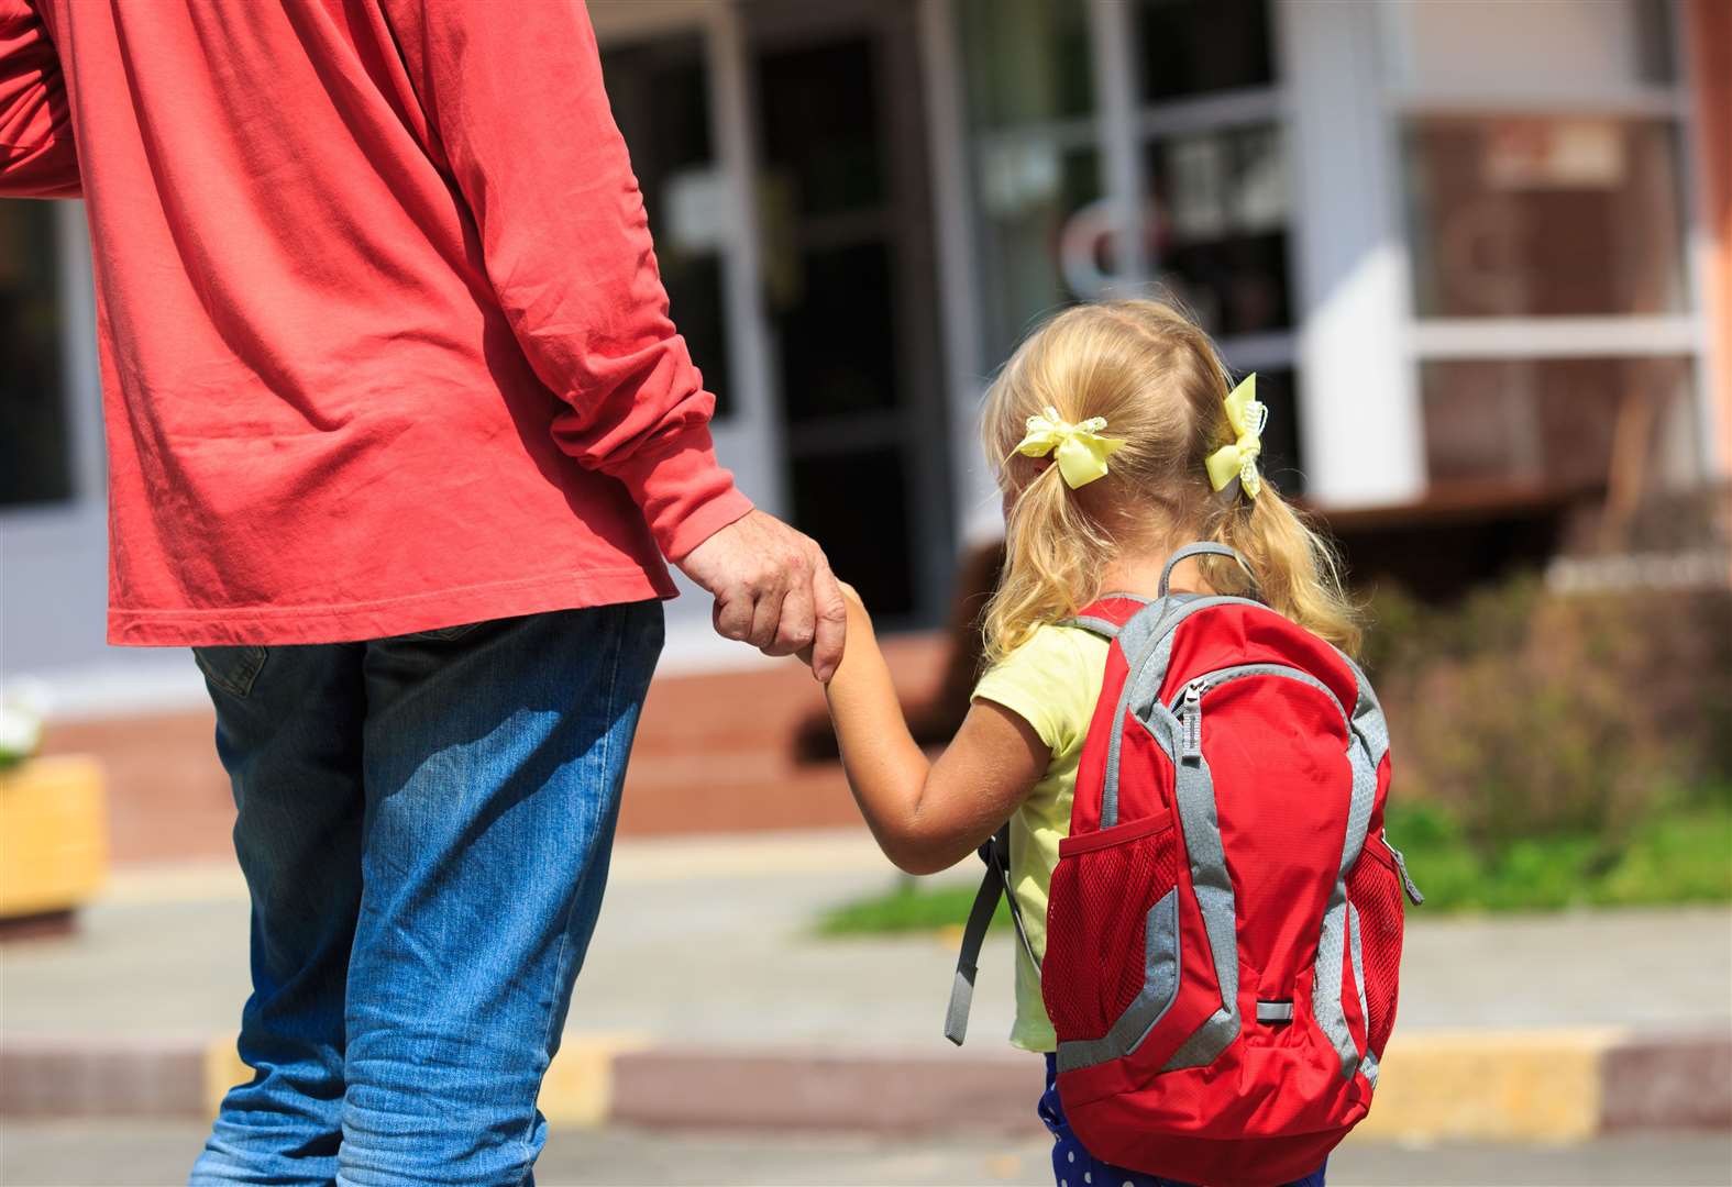
M1353 1139L1593 1137L1600 1128L1600 1061L1621 1038L1621 1030L1420 1031L1393 1038L1372 1113Z

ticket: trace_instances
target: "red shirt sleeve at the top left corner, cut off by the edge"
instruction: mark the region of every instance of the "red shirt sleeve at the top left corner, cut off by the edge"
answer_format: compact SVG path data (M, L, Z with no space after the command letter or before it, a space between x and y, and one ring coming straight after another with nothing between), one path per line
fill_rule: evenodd
M0 194L80 196L61 57L31 0L0 0Z

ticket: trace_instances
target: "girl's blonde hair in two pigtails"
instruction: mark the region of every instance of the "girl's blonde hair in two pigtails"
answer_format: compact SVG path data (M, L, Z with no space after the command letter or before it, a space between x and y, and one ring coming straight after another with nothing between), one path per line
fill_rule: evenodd
M1044 623L1093 602L1126 547L1212 540L1251 566L1263 600L1353 654L1358 611L1334 549L1263 479L1252 498L1209 486L1204 459L1233 441L1230 375L1209 336L1162 301L1065 310L1029 336L987 393L982 440L1006 493L1005 571L986 607L986 658L1003 659ZM1057 465L1015 452L1027 419L1057 408L1072 424L1107 419L1124 446L1108 474L1072 490ZM1200 559L1209 587L1249 590L1240 566Z

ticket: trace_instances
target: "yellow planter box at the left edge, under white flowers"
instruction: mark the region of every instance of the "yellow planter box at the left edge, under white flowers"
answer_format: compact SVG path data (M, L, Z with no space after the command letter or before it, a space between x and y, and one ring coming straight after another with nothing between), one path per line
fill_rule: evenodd
M0 919L66 912L95 895L107 869L102 767L33 758L0 772Z

